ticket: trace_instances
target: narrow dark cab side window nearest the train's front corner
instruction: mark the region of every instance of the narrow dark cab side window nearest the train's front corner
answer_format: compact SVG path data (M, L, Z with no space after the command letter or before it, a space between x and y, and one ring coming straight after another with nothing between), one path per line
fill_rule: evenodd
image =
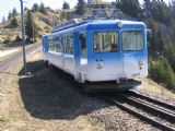
M80 41L81 41L81 57L86 57L88 50L86 50L86 35L85 34L80 35Z

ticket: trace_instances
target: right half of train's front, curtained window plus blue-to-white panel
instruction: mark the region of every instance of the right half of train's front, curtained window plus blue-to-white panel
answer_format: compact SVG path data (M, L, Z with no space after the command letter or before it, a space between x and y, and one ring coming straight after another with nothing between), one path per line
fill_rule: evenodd
M141 29L122 31L122 64L124 74L127 78L138 78L147 74L147 48L145 34Z

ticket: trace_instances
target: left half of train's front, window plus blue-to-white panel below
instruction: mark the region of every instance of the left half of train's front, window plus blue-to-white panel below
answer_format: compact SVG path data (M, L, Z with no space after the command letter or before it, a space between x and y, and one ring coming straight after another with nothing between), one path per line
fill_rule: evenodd
M94 32L93 43L93 81L118 80L121 70L119 32Z

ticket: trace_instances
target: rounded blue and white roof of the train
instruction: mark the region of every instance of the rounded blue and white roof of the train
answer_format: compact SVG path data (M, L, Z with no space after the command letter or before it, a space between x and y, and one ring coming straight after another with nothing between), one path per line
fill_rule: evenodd
M51 33L57 33L60 31L67 31L69 28L73 31L80 29L102 29L106 28L116 28L117 26L121 27L138 27L145 28L145 24L143 22L135 22L135 21L125 21L125 20L95 20L95 21L81 21L81 22L67 22L65 25L56 26ZM120 27L120 28L121 28Z

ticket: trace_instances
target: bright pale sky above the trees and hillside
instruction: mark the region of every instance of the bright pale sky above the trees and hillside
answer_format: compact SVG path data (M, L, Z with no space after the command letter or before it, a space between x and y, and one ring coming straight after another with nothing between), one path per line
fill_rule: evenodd
M61 9L63 0L23 0L24 7L31 9L34 3L40 4L42 2L45 4L45 7L50 7L51 9ZM78 0L65 0L70 4L71 8L73 8L77 4ZM103 1L116 1L116 0L103 0ZM139 0L142 2L143 0ZM168 1L168 0L164 0ZM20 8L20 0L0 0L0 22L2 21L2 17L8 16L9 11L12 11L13 8L16 8L18 12L21 12Z

